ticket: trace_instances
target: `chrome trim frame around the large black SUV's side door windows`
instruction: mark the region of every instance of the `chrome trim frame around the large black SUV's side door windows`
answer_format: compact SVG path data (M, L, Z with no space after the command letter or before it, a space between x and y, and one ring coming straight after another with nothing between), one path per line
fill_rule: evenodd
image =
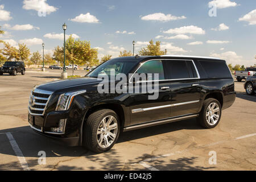
M142 67L143 64L147 63L148 61L162 61L162 60L170 60L170 61L192 61L195 70L196 70L196 78L176 78L176 79L164 79L164 80L149 80L149 81L137 81L137 83L141 83L141 82L154 82L154 81L178 81L178 80L199 80L200 74L199 71L197 70L196 64L194 62L194 60L192 59L151 59L151 60L147 60L144 63L141 63L141 65L139 65L139 67L135 70L135 72L133 73L133 75L129 78L129 84L132 84L131 82L131 78L133 78L134 74L138 71L139 68Z

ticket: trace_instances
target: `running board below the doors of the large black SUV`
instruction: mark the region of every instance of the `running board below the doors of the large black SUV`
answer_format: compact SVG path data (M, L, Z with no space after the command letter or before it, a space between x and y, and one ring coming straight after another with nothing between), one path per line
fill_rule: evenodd
M160 121L152 121L152 122L148 122L148 123L142 123L139 125L125 127L125 128L123 128L123 131L137 130L137 129L142 129L144 127L163 125L166 123L171 123L171 122L176 122L176 121L181 121L181 120L191 119L191 118L196 118L196 117L199 117L199 114L184 115L182 117L168 118L168 119L163 119Z

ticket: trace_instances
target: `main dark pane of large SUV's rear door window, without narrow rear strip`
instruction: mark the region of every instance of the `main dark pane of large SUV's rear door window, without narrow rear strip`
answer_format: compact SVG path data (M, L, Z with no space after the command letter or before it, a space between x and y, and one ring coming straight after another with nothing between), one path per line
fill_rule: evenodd
M175 61L175 60L170 60L170 61L165 61L165 67L166 67L166 72L168 75L168 79L182 79L182 78L190 78L190 74L187 68L187 63L186 61Z

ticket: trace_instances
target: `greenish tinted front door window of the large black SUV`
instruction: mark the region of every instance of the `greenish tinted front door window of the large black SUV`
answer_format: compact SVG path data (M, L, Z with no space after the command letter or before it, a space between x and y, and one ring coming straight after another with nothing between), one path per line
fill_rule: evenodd
M159 80L164 80L164 70L163 70L163 64L162 61L147 61L144 63L141 68L138 69L137 73L159 73ZM154 79L154 75L153 79Z

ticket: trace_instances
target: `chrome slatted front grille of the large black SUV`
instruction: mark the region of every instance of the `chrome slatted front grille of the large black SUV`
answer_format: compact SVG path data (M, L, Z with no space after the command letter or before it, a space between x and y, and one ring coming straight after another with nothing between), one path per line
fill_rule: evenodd
M52 94L53 92L46 90L32 90L30 100L28 101L28 112L32 115L44 115Z

